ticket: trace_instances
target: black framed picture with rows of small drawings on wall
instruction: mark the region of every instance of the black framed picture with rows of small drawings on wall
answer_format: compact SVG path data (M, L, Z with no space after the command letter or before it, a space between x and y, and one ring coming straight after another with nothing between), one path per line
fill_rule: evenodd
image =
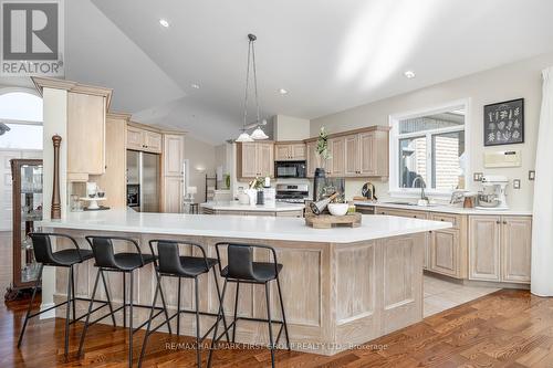
M524 143L524 98L484 106L484 146Z

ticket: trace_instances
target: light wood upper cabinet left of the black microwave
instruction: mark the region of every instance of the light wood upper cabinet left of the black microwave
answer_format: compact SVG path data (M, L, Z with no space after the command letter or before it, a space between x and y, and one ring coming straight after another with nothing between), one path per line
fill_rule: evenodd
M274 176L273 143L239 143L237 144L237 177L251 179L262 176Z

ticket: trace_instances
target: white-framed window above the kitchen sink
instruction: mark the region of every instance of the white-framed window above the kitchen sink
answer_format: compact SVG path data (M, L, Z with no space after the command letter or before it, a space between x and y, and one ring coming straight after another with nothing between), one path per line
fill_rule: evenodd
M390 192L434 194L463 189L467 104L390 117Z

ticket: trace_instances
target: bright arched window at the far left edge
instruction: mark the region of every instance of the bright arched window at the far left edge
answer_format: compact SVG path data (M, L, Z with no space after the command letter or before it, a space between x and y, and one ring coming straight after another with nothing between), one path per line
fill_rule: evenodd
M0 91L0 149L42 149L42 98Z

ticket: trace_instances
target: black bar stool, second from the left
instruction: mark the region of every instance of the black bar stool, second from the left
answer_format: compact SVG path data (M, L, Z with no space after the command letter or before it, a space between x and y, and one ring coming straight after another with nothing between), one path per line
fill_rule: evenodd
M144 327L148 322L144 322L142 325L139 325L136 328L133 328L133 308L134 307L143 307L143 308L150 308L149 305L140 305L140 304L134 304L133 303L133 297L134 297L134 290L133 290L133 284L134 284L134 274L133 272L137 269L142 269L145 265L149 263L155 263L156 262L156 256L154 254L143 254L140 252L140 246L138 243L128 238L122 238L122 236L85 236L86 241L91 244L92 252L94 254L94 260L95 264L94 266L98 267L98 273L96 275L96 281L94 282L94 287L92 291L92 297L91 297L91 303L88 305L88 313L86 314L86 320L84 324L84 329L83 334L81 335L81 343L79 345L79 357L82 356L83 353L83 345L84 345L84 338L86 335L86 330L88 329L88 326L94 325L95 323L106 318L107 316L112 316L114 318L114 314L118 311L123 311L123 325L126 327L126 308L128 307L128 367L133 367L133 336L134 334ZM122 252L122 253L115 253L114 251L114 244L113 241L119 241L124 242L127 244L133 244L134 248L136 249L136 252ZM104 283L104 286L106 288L107 293L107 285L105 283L105 277L104 277L104 271L106 272L121 272L123 273L123 305L119 306L116 309L111 308L109 313L95 319L94 322L90 322L91 314L93 313L93 303L94 303L94 296L96 295L96 290L98 285L98 280L100 276L102 275L102 281ZM126 291L126 283L125 283L125 275L129 275L129 290L128 290L128 303L125 299L125 293ZM156 277L157 277L157 272L156 272ZM158 280L159 282L159 280ZM160 315L161 313L165 313L165 317L168 320L169 316L167 314L167 308L165 305L165 296L163 292L160 291L161 294L161 302L164 307L156 307L156 309L160 309L157 314ZM170 326L169 326L169 334L171 333Z

